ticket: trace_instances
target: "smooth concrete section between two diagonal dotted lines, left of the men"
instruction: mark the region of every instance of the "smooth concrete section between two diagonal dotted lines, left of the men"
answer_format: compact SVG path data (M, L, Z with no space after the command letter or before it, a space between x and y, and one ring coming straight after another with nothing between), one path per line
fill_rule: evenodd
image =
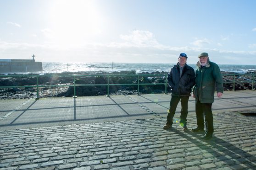
M4 121L0 121L0 127L36 128L152 117L154 115L126 96L42 98L31 100L12 112Z

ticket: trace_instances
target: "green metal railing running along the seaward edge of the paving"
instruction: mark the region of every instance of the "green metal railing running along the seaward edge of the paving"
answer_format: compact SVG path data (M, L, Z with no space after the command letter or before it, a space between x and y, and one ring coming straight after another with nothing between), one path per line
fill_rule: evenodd
M246 81L236 81L236 76L249 76L252 79L243 78ZM107 84L87 84L87 85L77 85L76 80L81 77L88 76L103 76L107 77ZM111 76L137 76L137 83L130 84L109 84L109 78ZM235 83L252 83L252 90L254 90L255 85L255 74L223 74L223 76L233 76L233 81L224 81L225 83L233 83L233 90L235 90ZM36 77L36 85L16 85L16 86L0 86L0 88L36 88L37 89L37 99L39 99L39 88L41 87L74 87L74 97L76 97L76 87L78 86L107 86L107 95L109 95L109 86L111 85L137 85L137 95L139 95L140 85L165 85L165 94L167 94L167 74L72 74L72 75L0 75L0 78L6 77ZM73 84L70 85L39 85L39 77L73 77ZM165 83L139 83L141 77L164 77Z

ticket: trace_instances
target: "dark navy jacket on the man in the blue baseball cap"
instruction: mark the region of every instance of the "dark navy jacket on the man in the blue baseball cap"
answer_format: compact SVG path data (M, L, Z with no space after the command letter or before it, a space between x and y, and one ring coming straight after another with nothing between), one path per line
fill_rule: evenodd
M185 64L180 77L180 69L177 63L169 71L167 80L172 96L190 96L191 88L195 85L195 70Z

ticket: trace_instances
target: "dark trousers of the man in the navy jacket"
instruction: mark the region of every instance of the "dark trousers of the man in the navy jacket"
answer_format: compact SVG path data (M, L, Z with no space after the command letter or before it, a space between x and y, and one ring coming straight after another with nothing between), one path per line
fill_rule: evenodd
M167 122L172 125L173 124L173 116L176 112L176 108L178 106L178 102L181 103L181 115L179 119L179 123L187 126L187 116L188 116L188 102L189 96L172 96L170 101L170 107L167 114Z

